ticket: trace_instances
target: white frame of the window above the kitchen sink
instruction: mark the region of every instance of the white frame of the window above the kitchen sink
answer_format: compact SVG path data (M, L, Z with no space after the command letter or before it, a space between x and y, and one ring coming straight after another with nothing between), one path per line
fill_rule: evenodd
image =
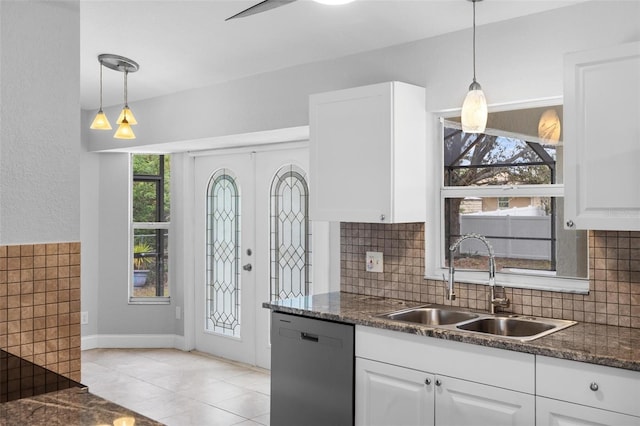
M531 108L537 106L552 106L562 104L561 98L548 98L529 103L505 104L494 107L494 111ZM445 264L445 198L477 197L514 197L514 196L546 196L564 197L564 184L549 185L505 185L494 187L478 187L472 191L467 187L444 186L444 121L459 115L459 110L448 110L429 114L428 127L434 143L427 150L433 165L431 175L427 176L427 219L425 224L425 279L442 281L443 286L448 277ZM432 219L432 220L430 220ZM587 253L588 256L588 248ZM456 270L456 282L488 285L486 271ZM589 292L589 278L549 277L534 274L496 273L496 284L504 287L535 289L544 291L561 291L569 293L587 294Z

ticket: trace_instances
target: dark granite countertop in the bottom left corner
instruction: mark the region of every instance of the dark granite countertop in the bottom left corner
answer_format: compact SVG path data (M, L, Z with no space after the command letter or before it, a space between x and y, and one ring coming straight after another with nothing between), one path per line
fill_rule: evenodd
M86 388L74 387L0 404L0 426L113 425L121 417L133 417L135 426L162 425L93 395Z

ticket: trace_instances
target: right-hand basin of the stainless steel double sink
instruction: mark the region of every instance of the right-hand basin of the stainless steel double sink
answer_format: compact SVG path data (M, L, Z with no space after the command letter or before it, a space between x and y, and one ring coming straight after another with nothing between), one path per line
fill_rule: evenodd
M575 324L575 321L555 320L531 317L485 317L464 324L456 328L465 331L491 334L494 336L517 338L518 340L533 340L547 334Z

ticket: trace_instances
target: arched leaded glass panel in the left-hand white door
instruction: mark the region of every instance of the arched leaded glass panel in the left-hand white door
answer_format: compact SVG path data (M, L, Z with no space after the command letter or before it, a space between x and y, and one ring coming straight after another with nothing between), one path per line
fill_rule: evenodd
M206 285L206 329L240 337L240 194L227 169L207 190Z

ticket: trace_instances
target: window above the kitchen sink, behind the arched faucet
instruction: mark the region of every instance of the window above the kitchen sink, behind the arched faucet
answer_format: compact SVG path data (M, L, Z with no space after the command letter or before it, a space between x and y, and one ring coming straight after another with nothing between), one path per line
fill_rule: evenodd
M519 113L537 125L538 109ZM501 114L493 114L494 123ZM449 251L460 236L475 233L493 248L498 283L584 291L587 235L563 227L562 144L525 130L497 130L491 122L490 115L484 134L467 134L455 119L442 121L442 232L432 228L439 238L427 247L427 275L442 279L453 258L456 279L486 283L488 254L480 241Z

